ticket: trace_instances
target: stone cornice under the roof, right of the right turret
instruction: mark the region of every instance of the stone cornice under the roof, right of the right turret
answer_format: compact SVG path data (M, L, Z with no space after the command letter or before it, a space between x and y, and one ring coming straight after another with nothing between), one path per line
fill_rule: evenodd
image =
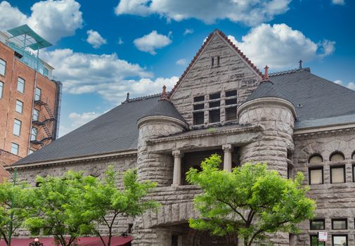
M295 129L294 138L311 138L332 136L334 134L355 134L355 124L330 127L316 127L311 129Z

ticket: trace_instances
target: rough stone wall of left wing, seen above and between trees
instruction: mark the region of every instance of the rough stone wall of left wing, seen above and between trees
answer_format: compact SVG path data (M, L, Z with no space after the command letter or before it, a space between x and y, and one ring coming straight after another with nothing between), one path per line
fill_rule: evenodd
M52 164L46 166L20 168L18 169L18 180L26 181L27 183L30 183L30 185L35 186L37 176L62 176L66 171L69 170L83 171L85 175L93 175L98 176L100 178L103 177L105 170L110 165L114 167L115 171L119 171L119 175L117 177L117 184L118 186L122 187L123 171L127 169L136 168L136 155L126 157L112 157L106 160L71 162L65 164ZM116 220L116 224L112 230L113 233L116 235L120 235L122 232L127 231L128 223L131 221L132 219L127 219L123 216L119 217ZM108 233L104 226L101 226L99 229L104 235L105 233ZM20 229L17 231L17 234L15 236L22 237L26 235L29 235L28 231Z

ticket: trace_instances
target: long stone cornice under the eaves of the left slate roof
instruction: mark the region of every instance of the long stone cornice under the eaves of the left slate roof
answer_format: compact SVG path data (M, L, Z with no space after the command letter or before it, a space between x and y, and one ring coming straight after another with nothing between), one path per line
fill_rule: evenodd
M124 152L106 153L102 155L89 155L85 157L75 157L75 158L64 159L64 160L51 160L47 162L17 164L17 165L8 166L5 169L11 170L14 168L22 169L22 168L33 168L33 167L46 167L46 166L53 166L56 164L68 164L74 162L92 162L96 160L110 160L115 157L128 157L128 156L135 156L135 155L137 155L137 150L127 150Z

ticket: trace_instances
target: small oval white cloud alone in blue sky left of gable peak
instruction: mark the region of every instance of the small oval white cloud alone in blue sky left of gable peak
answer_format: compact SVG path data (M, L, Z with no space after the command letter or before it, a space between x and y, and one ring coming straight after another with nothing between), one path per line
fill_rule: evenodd
M150 54L155 55L157 53L155 49L172 44L170 35L171 32L169 32L169 36L165 36L163 34L158 34L157 31L153 30L150 34L134 39L134 45L140 51L149 52Z

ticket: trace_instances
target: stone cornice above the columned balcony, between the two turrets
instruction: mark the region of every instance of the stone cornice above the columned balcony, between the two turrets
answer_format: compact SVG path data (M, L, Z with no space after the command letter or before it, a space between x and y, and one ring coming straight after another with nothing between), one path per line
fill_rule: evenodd
M209 131L209 132L202 132L197 134L191 135L177 135L177 136L166 136L162 138L153 138L148 141L148 143L164 143L170 141L179 141L179 140L186 140L191 138L201 138L206 136L219 136L219 135L227 135L227 134L243 134L245 132L256 132L262 131L262 127L260 126L251 126L251 127L242 127L242 128L235 128L235 129L225 129L221 131Z

